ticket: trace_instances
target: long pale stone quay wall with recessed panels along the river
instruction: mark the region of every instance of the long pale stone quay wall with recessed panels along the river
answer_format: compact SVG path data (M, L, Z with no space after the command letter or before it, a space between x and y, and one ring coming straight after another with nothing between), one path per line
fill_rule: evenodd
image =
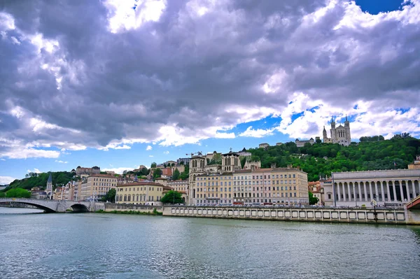
M409 212L407 212L409 211ZM405 208L240 208L165 206L164 216L206 217L244 220L278 220L303 222L343 222L378 224L420 224L420 210Z

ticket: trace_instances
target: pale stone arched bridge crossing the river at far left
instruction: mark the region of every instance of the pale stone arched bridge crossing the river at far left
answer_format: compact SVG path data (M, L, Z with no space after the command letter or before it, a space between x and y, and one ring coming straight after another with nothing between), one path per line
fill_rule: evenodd
M21 199L6 198L0 199L0 203L20 203L35 206L42 209L45 213L66 212L71 208L73 212L93 212L95 210L94 201L56 201L53 199Z

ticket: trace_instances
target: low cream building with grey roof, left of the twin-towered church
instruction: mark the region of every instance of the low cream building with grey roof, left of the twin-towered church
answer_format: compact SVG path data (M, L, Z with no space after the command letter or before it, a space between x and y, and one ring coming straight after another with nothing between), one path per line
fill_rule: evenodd
M116 203L162 206L164 185L151 181L117 185Z

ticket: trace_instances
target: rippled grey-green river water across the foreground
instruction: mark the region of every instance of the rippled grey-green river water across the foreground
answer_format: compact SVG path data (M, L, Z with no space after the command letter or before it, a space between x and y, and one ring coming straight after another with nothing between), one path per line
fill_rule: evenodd
M420 278L420 227L0 208L0 278Z

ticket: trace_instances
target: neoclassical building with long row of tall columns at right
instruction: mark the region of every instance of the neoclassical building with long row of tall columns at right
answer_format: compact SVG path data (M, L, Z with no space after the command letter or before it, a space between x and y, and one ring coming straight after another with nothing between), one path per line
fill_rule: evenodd
M349 171L332 173L332 184L324 185L325 205L370 207L406 203L420 194L420 169ZM327 200L330 203L327 203Z

